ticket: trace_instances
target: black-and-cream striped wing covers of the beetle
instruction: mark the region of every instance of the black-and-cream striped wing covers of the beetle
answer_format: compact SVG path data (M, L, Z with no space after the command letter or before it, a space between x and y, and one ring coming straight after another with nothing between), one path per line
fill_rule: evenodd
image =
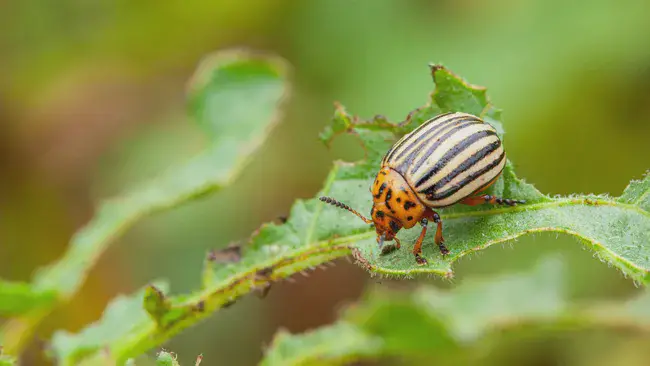
M505 163L492 126L470 114L447 113L400 139L382 166L399 172L427 206L444 207L485 188Z

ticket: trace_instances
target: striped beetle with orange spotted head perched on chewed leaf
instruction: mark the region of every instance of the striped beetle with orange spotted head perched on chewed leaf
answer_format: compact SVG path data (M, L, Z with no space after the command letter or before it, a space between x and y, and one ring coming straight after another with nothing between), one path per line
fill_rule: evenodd
M494 127L468 113L444 113L404 135L386 152L371 187L371 219L334 198L320 200L373 224L380 248L385 241L395 240L395 248L399 249L397 232L419 223L422 231L413 254L417 264L424 265L427 261L422 257L422 241L429 220L437 225L434 241L440 252L443 256L449 254L442 236L442 220L435 209L457 203L525 203L485 194L505 165L506 154Z

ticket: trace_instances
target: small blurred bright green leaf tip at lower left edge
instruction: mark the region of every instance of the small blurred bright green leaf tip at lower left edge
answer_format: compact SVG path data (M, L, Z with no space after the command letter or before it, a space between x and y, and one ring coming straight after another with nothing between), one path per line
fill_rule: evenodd
M54 291L39 291L28 283L0 280L0 316L17 316L51 306Z

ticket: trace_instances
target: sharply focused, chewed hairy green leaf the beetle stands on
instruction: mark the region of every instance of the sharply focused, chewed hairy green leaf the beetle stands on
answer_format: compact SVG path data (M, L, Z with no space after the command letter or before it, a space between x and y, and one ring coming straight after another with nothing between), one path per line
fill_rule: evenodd
M404 123L391 123L382 117L363 121L337 106L333 122L323 131L321 139L329 142L337 135L349 133L362 143L366 154L358 162L336 162L319 196L333 196L361 212L369 212L369 187L383 154L399 136L441 112L461 110L479 114L503 134L500 111L489 103L484 88L467 84L441 66L432 67L432 74L436 89L430 103L412 112ZM650 179L646 177L644 181L632 183L631 187L632 191L628 189L629 192L621 197L625 201L605 196L550 198L517 178L512 164L508 164L491 193L525 199L527 204L517 207L459 205L441 211L451 255L442 258L432 245L429 234L424 247L424 255L429 260L426 266L416 265L408 245L380 255L374 229L349 213L317 199L297 200L286 223L264 224L244 245L210 253L200 290L183 296L167 296L149 288L143 299L149 317L133 327L128 337L107 340L102 349L109 350L115 359L123 362L162 344L251 291L264 294L275 281L350 253L371 273L451 276L451 264L473 251L527 233L555 231L582 239L602 259L634 280L647 281L650 260L646 254L650 250L644 245L650 235L650 220L645 211L647 208L638 203L645 202ZM400 233L400 238L406 244L413 242L417 235L417 230L405 230ZM391 314L395 311L405 317L421 317L418 312L411 311L409 301L402 304L391 302ZM420 308L419 311L424 310ZM379 328L376 330L379 331L381 323L377 324ZM422 328L421 339L429 343L434 341L427 339L426 334L427 329L436 330L440 334L448 333L437 338L436 344L453 347L457 335L443 331L447 329L445 327L440 319L431 318ZM471 332L467 331L467 334ZM318 335L314 337L318 338ZM395 341L388 343L388 349L392 344L398 348L410 346L419 349L417 343ZM75 360L76 356L71 357Z

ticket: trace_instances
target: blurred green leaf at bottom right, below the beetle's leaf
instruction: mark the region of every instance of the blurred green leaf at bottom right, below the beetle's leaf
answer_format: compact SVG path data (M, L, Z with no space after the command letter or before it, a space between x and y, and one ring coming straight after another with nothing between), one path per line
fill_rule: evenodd
M551 328L559 332L628 327L650 333L650 292L627 302L574 304L566 300L563 271L561 261L549 258L530 272L465 281L453 290L371 291L334 325L305 334L278 333L262 365L311 365L329 358L458 361L475 355L482 340L524 325L571 325ZM370 341L375 347L350 346Z

